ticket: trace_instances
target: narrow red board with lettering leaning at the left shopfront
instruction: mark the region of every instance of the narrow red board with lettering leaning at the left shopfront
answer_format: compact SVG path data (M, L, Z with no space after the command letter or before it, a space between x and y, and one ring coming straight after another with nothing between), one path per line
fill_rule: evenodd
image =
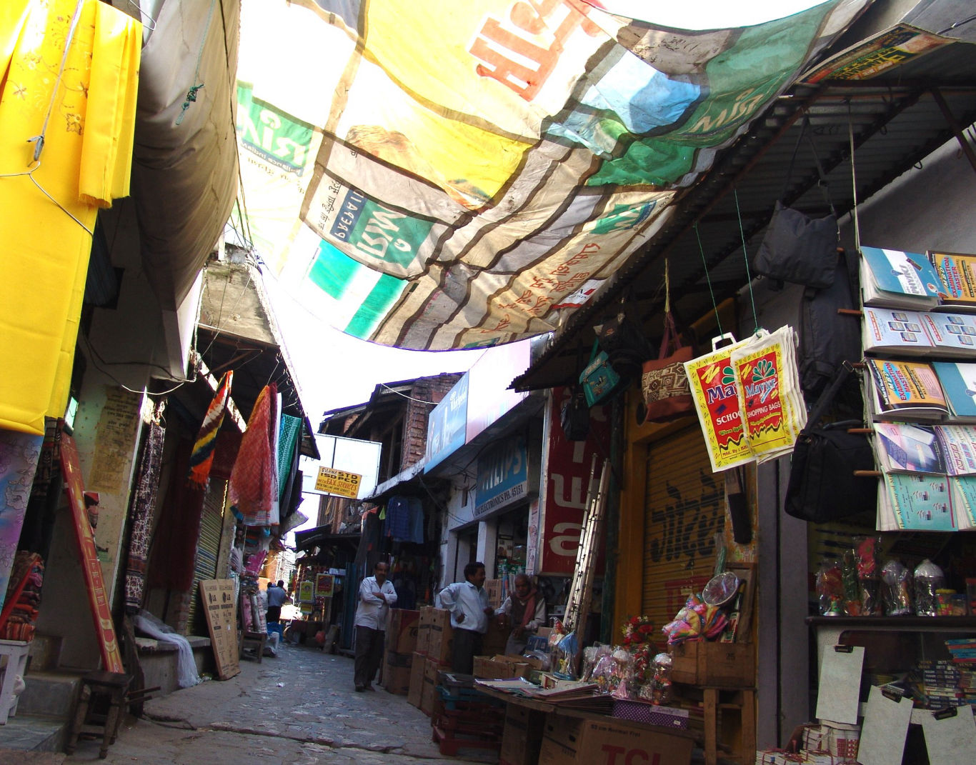
M102 564L99 563L95 537L92 534L92 526L88 522L88 512L85 510L85 485L81 480L78 448L74 444L74 439L67 433L61 435L61 466L64 470L64 491L67 492L68 503L71 505L75 538L81 556L81 570L88 589L88 602L92 607L95 633L102 652L102 667L109 672L124 672L122 654L119 653L118 640L115 639L115 624L112 622L112 612L108 607L108 596L105 594L105 584L102 582Z

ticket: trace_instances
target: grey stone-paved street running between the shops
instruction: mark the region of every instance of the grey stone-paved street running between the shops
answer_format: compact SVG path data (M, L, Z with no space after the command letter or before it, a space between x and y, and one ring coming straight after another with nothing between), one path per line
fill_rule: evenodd
M67 763L114 765L316 765L317 763L497 762L477 749L445 757L430 722L405 696L377 688L355 693L352 660L283 645L241 673L153 699L142 719L128 718L99 760L99 742L79 742Z

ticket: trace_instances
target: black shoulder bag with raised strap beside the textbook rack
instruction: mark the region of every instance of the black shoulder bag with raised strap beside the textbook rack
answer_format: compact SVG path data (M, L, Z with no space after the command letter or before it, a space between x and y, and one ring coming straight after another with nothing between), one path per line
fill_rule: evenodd
M855 470L874 470L874 450L858 421L818 426L852 371L850 364L837 367L834 379L821 394L806 426L793 447L790 482L784 509L788 515L810 523L826 523L877 507L877 479L857 476Z

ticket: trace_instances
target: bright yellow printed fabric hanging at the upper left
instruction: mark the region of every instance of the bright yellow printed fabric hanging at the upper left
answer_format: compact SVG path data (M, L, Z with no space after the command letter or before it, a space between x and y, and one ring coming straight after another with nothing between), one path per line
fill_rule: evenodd
M61 417L67 403L98 211L81 201L83 147L86 176L95 179L86 194L107 204L101 195L127 188L132 164L132 136L113 134L131 134L134 119L114 112L134 114L142 25L99 0L30 0L25 20L8 11L0 12L0 43L15 40L0 92L0 428L40 434L44 416ZM103 24L115 33L102 34ZM118 93L93 92L102 88ZM90 102L98 104L97 124L87 120L96 118ZM49 108L38 166L29 140L45 129Z

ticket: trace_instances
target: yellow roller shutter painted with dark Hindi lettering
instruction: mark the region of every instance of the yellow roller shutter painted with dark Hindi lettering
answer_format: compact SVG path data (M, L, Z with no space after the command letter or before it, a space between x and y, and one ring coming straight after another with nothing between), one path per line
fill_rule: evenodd
M658 629L712 577L715 534L725 526L723 478L712 473L697 423L648 445L644 507L641 602Z

